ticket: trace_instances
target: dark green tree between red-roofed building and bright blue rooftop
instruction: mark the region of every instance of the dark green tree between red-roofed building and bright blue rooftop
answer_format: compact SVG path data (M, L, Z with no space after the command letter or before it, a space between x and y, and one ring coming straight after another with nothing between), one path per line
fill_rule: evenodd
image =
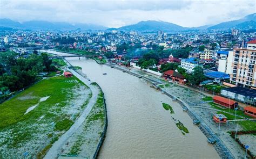
M188 76L188 81L192 85L199 85L201 82L205 81L206 77L203 72L203 68L197 66L193 69L193 73Z

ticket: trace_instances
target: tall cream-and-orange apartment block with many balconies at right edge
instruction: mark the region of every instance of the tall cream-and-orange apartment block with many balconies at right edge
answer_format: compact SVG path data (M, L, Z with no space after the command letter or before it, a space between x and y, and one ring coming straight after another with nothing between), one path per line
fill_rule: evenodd
M247 48L234 48L230 81L256 89L256 39L247 43Z

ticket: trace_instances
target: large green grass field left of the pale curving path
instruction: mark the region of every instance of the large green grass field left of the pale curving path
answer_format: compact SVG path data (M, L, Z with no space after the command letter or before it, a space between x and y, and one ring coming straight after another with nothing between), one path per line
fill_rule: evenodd
M22 156L29 151L34 158L45 147L50 148L57 140L52 133L58 138L70 128L89 93L78 78L58 76L43 79L0 104L0 156ZM74 105L77 98L84 98L82 104ZM35 109L25 114L32 106Z

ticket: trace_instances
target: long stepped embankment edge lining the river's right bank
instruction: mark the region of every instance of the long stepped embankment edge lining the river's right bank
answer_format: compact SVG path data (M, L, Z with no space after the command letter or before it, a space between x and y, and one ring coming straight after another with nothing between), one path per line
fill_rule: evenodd
M147 78L144 77L142 75L138 75L136 73L132 73L129 70L123 69L123 68L119 68L116 66L113 66L112 64L108 64L106 63L106 66L121 70L121 71L125 71L128 74L131 74L133 76L139 77L139 78L144 78L146 81L151 82L153 84L154 88L158 88L160 91L164 92L165 95L167 95L170 98L173 98L174 96L172 96L170 93L162 90L161 88L159 88L157 86L157 84L160 84L158 81L155 81L151 78ZM219 154L220 158L227 158L227 159L233 159L234 156L232 155L231 151L225 146L225 144L223 143L223 141L221 141L221 139L212 131L212 129L205 124L205 122L203 121L203 119L201 119L196 112L194 112L190 106L188 106L188 104L185 104L185 102L183 102L180 99L176 99L176 101L181 105L181 107L183 107L183 109L187 110L187 114L190 116L190 118L192 120L198 120L200 121L200 124L198 125L199 129L201 130L201 132L204 133L204 135L207 138L213 138L216 142L213 144L214 149L217 151L217 153Z

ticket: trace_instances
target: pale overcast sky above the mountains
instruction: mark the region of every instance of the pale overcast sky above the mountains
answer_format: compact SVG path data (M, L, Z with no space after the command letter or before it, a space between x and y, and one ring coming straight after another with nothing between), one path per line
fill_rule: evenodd
M256 12L256 0L0 0L0 18L90 23L107 27L162 20L196 27L235 20Z

